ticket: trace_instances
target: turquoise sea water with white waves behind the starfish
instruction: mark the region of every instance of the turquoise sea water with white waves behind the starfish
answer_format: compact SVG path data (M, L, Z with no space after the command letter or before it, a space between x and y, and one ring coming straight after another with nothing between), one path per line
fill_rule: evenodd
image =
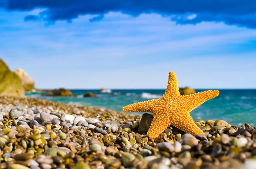
M202 92L204 90L196 90ZM226 120L231 125L241 125L245 122L256 126L256 89L219 90L220 95L208 100L191 112L194 120ZM66 104L80 104L83 106L105 107L122 111L128 104L159 98L164 89L112 90L102 93L99 90L71 90L78 97L45 97L37 93L28 93L28 97L37 97ZM83 98L86 92L92 92L99 97Z

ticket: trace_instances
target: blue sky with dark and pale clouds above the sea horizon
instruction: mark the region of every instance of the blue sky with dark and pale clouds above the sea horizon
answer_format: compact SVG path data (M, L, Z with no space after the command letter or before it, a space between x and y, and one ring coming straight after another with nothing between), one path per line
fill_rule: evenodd
M0 58L39 89L256 88L256 2L0 0Z

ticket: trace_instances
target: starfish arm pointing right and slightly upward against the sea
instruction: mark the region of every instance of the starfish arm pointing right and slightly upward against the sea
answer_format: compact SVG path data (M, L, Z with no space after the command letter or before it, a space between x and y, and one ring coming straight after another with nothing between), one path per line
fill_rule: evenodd
M195 93L192 95L180 96L181 104L179 107L186 107L186 111L191 112L193 109L200 106L202 103L219 95L218 90L207 90L204 92Z

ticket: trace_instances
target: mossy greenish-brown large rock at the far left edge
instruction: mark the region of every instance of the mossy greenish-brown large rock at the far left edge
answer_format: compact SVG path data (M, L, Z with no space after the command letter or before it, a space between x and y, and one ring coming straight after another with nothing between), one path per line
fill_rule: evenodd
M24 97L22 81L15 72L10 71L9 67L0 59L0 96Z

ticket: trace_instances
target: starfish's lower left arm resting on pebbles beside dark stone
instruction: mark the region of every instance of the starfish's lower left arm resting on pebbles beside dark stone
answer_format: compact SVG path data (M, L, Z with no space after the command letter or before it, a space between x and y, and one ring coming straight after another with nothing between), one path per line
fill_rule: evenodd
M147 135L153 139L157 138L169 125L169 118L165 118L164 115L161 114L154 115Z

